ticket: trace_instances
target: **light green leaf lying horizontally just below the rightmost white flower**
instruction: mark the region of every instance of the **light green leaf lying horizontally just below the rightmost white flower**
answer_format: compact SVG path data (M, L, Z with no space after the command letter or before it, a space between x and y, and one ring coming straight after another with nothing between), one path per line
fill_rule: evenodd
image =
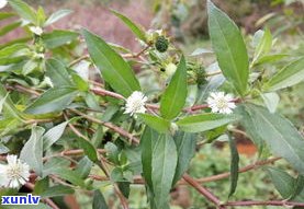
M177 125L185 132L203 132L227 125L236 119L238 119L236 115L206 113L181 118L177 121Z

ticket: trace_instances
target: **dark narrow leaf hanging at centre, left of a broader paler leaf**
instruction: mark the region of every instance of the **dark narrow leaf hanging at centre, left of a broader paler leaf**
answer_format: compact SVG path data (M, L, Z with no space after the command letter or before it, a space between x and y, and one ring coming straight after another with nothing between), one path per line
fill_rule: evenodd
M146 126L140 138L143 176L150 190L153 190L151 159L158 137L159 135L157 131Z

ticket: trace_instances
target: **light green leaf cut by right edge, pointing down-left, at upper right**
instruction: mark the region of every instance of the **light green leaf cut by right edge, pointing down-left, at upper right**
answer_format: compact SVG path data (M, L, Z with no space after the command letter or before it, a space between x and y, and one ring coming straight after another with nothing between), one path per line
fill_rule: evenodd
M264 85L268 91L277 91L280 89L295 85L304 80L304 57L297 59L278 73L275 73Z

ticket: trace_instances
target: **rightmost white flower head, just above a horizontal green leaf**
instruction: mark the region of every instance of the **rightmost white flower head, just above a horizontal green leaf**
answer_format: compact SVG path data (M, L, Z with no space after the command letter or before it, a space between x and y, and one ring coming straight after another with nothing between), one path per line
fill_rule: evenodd
M233 96L224 92L213 92L207 98L207 104L213 113L230 114L236 107Z

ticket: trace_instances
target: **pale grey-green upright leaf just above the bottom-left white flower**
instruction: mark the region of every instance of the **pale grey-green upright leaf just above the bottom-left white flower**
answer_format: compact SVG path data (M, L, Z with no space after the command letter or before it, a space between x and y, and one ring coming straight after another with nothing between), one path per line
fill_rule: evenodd
M20 159L26 162L40 176L43 172L43 133L44 128L33 127L31 138L20 152Z

